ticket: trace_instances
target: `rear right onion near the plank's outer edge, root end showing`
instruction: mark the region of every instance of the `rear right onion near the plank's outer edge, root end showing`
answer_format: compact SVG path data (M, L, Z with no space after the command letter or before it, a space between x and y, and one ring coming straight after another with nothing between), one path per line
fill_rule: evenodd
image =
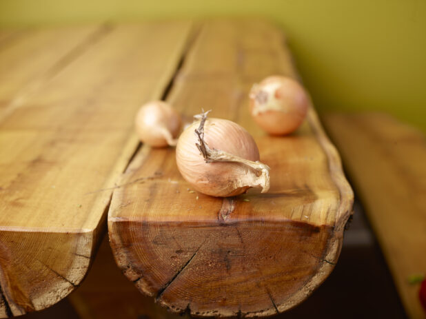
M272 135L294 132L305 119L309 105L310 97L303 86L286 76L269 76L250 91L250 113Z

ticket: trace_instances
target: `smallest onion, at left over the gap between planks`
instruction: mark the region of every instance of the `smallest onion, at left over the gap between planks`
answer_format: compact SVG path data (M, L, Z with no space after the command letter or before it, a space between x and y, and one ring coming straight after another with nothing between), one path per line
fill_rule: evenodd
M163 101L142 105L135 119L136 133L143 143L153 147L176 145L181 128L181 116Z

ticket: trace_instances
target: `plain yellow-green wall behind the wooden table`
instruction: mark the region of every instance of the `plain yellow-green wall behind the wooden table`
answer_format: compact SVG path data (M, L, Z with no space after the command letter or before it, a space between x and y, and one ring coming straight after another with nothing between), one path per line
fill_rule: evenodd
M0 25L261 16L287 33L320 110L385 110L426 130L425 0L0 0Z

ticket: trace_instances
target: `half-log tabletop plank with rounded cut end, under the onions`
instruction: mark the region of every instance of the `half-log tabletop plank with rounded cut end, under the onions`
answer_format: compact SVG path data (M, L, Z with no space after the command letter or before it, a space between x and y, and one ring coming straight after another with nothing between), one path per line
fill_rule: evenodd
M208 21L168 96L186 116L204 107L246 127L271 167L269 193L188 192L174 150L145 145L114 190L108 229L116 261L171 311L270 316L309 296L336 263L352 190L313 108L291 136L254 125L247 93L270 74L297 76L279 30L265 21ZM223 207L232 207L226 220Z

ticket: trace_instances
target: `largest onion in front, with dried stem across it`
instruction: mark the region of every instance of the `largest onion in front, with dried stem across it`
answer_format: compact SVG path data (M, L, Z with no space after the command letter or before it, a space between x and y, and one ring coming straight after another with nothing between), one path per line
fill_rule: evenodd
M194 116L179 137L176 163L183 178L210 196L236 196L250 187L267 192L270 168L259 162L252 136L240 125L224 119Z

